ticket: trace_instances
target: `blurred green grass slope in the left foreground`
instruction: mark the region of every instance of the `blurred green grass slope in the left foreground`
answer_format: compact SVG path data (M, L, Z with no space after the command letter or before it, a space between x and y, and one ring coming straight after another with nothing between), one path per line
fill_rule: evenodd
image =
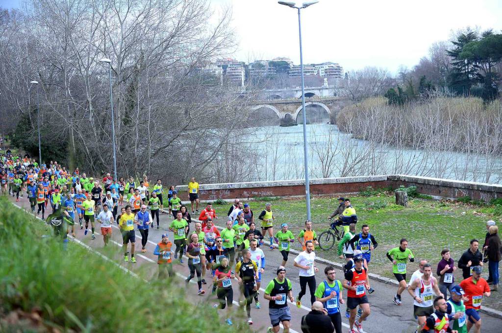
M38 309L42 324L60 331L248 329L220 325L210 304L185 300L175 283L147 283L72 242L63 251L53 237L41 238L47 234L52 228L0 198L0 316ZM0 331L18 331L6 325Z

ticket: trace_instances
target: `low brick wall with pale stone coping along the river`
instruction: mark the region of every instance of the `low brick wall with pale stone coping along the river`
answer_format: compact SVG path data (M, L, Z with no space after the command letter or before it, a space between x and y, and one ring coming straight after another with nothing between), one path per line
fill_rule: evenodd
M259 197L296 197L305 196L302 180L203 184L200 186L200 200L232 200ZM373 188L398 188L400 185L416 186L421 194L435 198L459 198L469 196L473 200L489 201L502 198L502 186L474 182L461 182L428 177L407 175L385 175L368 177L345 177L313 179L310 181L311 196L325 196L357 193L368 186ZM182 198L186 198L187 186L177 186Z

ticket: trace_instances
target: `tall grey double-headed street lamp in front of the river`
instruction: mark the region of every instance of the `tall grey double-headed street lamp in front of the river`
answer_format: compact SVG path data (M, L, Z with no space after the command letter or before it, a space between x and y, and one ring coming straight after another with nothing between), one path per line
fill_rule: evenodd
M288 6L298 10L298 35L300 36L300 72L302 78L302 111L303 111L303 158L305 164L305 199L307 201L307 220L310 219L310 180L309 180L309 157L308 157L308 147L307 147L307 114L305 112L305 81L303 78L303 52L302 52L302 22L300 19L300 10L307 8L311 5L317 4L318 1L312 1L308 3L303 3L301 6L297 6L292 2L279 1L280 5Z

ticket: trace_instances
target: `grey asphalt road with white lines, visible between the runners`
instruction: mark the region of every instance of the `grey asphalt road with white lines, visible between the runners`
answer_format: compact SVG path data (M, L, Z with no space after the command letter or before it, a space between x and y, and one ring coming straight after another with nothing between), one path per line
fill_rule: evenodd
M13 198L10 198L11 201L14 202ZM30 210L29 202L25 196L25 198L20 199L19 203L16 203L24 209ZM51 211L51 209L48 209ZM46 212L46 216L47 216ZM226 216L224 217L226 219ZM220 218L221 219L221 218ZM192 219L193 221L193 219ZM76 225L76 239L81 241L83 244L89 246L95 251L100 252L106 257L110 258L114 262L118 263L122 267L127 270L131 270L133 272L139 273L146 279L156 278L157 276L157 256L153 255L153 250L158 242L161 241L161 235L163 233L168 233L169 238L173 240L172 232L168 231L168 224L171 222L171 219L168 219L167 214L161 214L161 229L150 229L149 241L147 243L147 252L141 253L137 252L136 257L138 262L133 264L131 262L124 263L122 258L123 255L119 249L122 244L120 232L116 225L113 226L112 233L112 247L116 247L116 252L111 250L110 248L103 248L103 240L101 235L99 234L100 228L99 223L96 224L96 239L90 239L90 233L87 236L84 236L83 230L80 230L78 227L78 221ZM217 221L217 224L222 224ZM90 228L90 226L89 226ZM194 223L190 226L191 231L195 229ZM136 232L137 238L137 249L141 250L141 235L139 232ZM281 264L282 256L277 250L270 251L268 247L262 248L265 252L266 256L266 269L265 273L262 274L263 282L262 288L268 284L274 277L277 276L276 269ZM288 264L286 265L287 274L286 277L289 278L293 285L293 294L298 294L300 290L299 285L299 277L298 277L298 268L293 266L294 255L290 254ZM189 274L187 267L187 259L185 258L185 264L173 264L173 268L177 275L180 277L186 277ZM325 265L321 263L317 263L316 266L319 268L319 272L316 274L317 283L320 283L324 279L324 268ZM369 267L371 268L371 266ZM210 272L206 272L206 280L210 280ZM336 269L336 278L339 280L343 280L343 272L339 269ZM195 279L194 279L195 280ZM192 281L188 286L187 297L191 297L194 301L207 301L209 304L216 303L216 297L211 295L210 285L203 285L206 290L206 294L204 296L197 295L197 285ZM363 322L363 328L365 332L371 333L387 333L390 331L389 327L392 327L393 332L402 332L402 333L413 333L417 327L416 321L413 319L413 299L408 293L405 291L403 293L403 305L397 306L392 302L392 298L396 293L396 287L393 285L388 285L383 282L370 280L371 286L375 289L375 292L371 295L368 295L370 305L371 305L371 314L368 319ZM234 288L234 303L235 300L242 299L242 296L236 296L239 294L237 292L237 281L233 281L232 283ZM267 326L270 325L269 316L268 316L268 301L263 298L264 290L260 292L260 302L262 304L261 309L255 309L252 306L251 315L254 320L254 324L252 325L252 329L257 332L264 332L267 329ZM237 299L238 298L238 299ZM344 292L344 298L346 299L346 292ZM307 289L307 294L302 298L302 308L297 308L295 304L290 304L292 321L291 321L291 332L301 332L300 321L301 317L305 315L310 309L310 294ZM245 312L243 309L237 310L237 307L234 307L235 311ZM342 309L342 321L343 327L342 330L344 332L348 331L348 319L343 316L343 311L345 310L345 305L341 305ZM224 311L220 311L221 322L223 323L223 314ZM502 326L502 319L498 319L484 313L481 313L481 318L483 322L482 332L485 333L495 333L500 331L500 326ZM498 327L498 328L497 328ZM282 331L282 330L281 330Z

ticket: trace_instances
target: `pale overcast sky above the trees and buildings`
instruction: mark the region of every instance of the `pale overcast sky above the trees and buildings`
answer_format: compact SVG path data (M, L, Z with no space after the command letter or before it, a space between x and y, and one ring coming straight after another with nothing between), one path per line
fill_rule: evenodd
M291 1L291 0L290 0ZM307 1L307 0L305 0ZM21 0L0 0L4 7ZM242 61L291 58L299 64L296 10L275 0L211 0L232 8L232 26ZM502 0L320 0L302 10L305 63L338 62L345 70L364 66L396 72L413 67L429 46L471 26L502 30Z

